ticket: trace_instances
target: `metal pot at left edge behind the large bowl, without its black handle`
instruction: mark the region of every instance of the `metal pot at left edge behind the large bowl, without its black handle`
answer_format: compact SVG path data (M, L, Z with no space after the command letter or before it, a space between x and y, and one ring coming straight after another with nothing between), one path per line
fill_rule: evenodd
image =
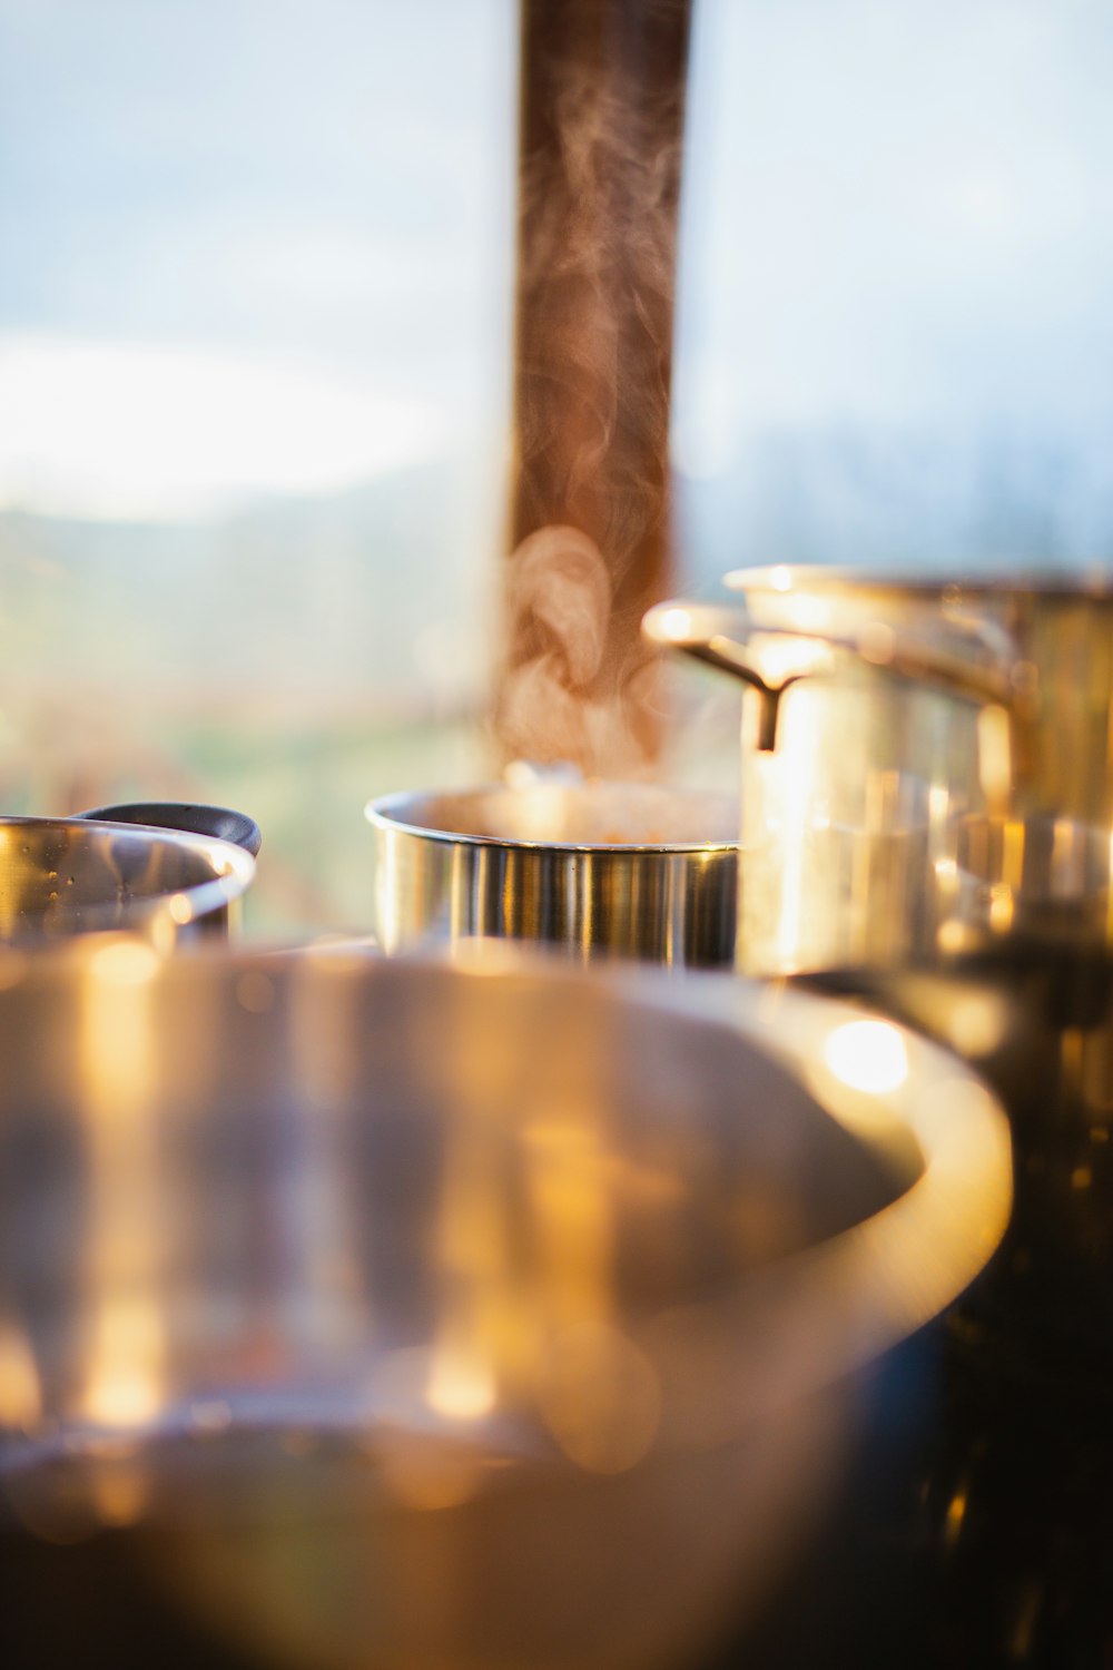
M85 818L0 818L0 940L127 929L159 945L222 934L255 860L230 842Z

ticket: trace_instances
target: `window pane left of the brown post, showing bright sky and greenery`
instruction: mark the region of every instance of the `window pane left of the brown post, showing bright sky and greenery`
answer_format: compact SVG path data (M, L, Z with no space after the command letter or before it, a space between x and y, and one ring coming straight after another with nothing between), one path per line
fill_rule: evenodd
M512 0L0 0L0 782L264 828L367 922L369 795L481 753Z

